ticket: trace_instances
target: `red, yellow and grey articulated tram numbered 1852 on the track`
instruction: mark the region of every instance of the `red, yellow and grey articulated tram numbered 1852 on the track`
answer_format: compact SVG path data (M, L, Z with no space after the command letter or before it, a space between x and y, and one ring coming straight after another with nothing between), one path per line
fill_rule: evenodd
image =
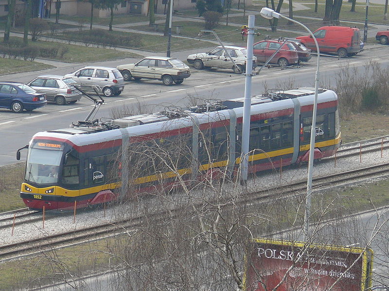
M270 90L252 97L249 173L308 161L314 88ZM193 180L212 170L235 175L241 156L243 98L109 122L84 121L36 133L28 148L20 197L31 210L88 207ZM338 100L319 89L314 158L340 146ZM20 158L18 149L17 158Z

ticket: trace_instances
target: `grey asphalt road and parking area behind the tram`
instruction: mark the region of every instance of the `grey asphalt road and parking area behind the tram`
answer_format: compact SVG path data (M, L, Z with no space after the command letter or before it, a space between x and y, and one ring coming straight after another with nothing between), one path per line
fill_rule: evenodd
M341 67L355 66L363 71L365 63L375 60L383 65L388 64L389 46L374 46L364 52L347 59L336 57L320 57L320 87L333 88L336 86L336 73ZM203 50L206 51L206 50ZM173 56L186 59L191 51L182 51ZM93 65L117 66L134 62L133 59L94 63ZM43 74L64 75L85 64L57 64L50 70L12 74L2 77L2 81L28 82ZM204 103L204 99L230 99L244 97L245 77L236 75L231 70L195 70L191 68L192 76L182 84L163 86L158 80L142 80L127 82L122 95L109 97L106 104L92 116L93 118L112 117L113 113L152 113L163 110L165 106L188 106L193 103ZM265 93L265 88L283 88L292 83L294 87L314 87L316 57L299 68L264 68L261 73L252 78L252 95ZM198 100L200 99L200 100ZM0 136L3 139L0 148L0 166L17 162L16 150L29 143L31 137L39 131L68 127L72 122L84 120L92 109L92 102L86 98L76 104L59 106L48 104L46 107L31 113L12 113L0 109ZM91 119L93 119L91 118ZM25 159L26 151L22 153Z

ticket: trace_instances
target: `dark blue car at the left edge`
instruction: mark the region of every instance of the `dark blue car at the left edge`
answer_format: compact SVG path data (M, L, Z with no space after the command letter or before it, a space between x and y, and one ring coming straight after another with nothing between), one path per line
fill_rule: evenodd
M34 110L47 104L46 94L39 94L23 84L0 82L0 108L7 108L15 113L23 110Z

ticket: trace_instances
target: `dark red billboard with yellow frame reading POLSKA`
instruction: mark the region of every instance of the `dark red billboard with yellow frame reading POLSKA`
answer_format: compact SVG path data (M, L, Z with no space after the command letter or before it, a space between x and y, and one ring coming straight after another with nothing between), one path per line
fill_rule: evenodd
M372 257L371 249L255 239L245 291L364 291Z

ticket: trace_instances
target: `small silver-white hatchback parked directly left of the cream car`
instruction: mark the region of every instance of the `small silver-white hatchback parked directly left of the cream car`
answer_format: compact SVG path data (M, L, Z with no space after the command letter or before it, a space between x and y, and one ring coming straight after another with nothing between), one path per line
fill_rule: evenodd
M124 89L122 74L110 67L87 66L66 74L64 78L71 78L81 85L97 85L106 97L118 96Z

